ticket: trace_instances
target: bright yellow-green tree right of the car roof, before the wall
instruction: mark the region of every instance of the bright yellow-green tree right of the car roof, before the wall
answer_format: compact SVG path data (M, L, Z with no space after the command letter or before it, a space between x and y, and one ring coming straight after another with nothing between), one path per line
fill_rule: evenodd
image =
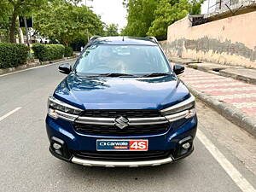
M147 34L160 40L166 39L167 27L188 15L191 8L192 5L188 0L160 0L154 11L155 20Z

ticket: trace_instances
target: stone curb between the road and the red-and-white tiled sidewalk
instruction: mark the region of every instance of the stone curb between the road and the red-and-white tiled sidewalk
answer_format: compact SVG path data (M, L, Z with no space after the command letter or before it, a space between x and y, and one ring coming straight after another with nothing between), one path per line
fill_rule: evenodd
M251 133L256 137L256 118L243 113L240 110L230 106L224 102L218 102L211 96L206 96L198 90L194 90L191 86L187 85L191 93L199 98L201 101L207 103L208 106L220 113L224 118L230 120L232 123L240 126L243 130Z

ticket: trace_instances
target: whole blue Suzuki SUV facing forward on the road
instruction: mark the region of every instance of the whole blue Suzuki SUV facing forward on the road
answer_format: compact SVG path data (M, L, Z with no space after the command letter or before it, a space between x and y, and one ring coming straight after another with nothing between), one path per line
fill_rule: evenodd
M55 157L84 166L159 166L192 153L195 97L153 37L93 37L48 100Z

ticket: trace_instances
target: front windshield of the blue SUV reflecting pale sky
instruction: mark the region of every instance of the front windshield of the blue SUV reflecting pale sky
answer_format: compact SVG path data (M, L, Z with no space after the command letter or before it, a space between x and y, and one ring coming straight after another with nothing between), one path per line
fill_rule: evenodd
M170 73L170 68L158 46L92 45L84 50L75 71L86 74L146 75Z

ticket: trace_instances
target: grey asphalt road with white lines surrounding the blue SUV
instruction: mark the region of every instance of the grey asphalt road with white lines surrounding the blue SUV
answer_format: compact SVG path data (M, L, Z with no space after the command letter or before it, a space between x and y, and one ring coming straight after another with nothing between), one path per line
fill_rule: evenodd
M68 164L48 151L46 101L65 75L57 65L0 76L0 191L254 191L256 140L197 102L195 152L141 168Z

